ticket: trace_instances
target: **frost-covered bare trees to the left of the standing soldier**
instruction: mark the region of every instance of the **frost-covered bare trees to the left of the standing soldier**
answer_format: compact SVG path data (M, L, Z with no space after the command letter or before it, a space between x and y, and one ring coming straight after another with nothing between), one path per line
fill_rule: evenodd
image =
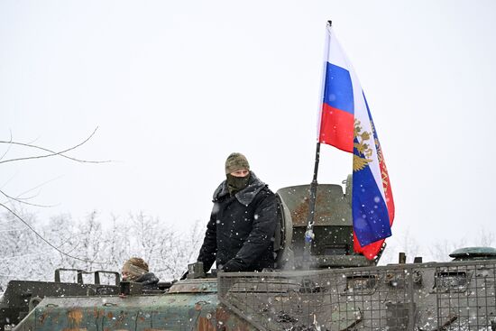
M161 280L178 279L196 260L204 233L199 222L182 234L143 212L110 220L95 211L80 220L65 214L48 222L22 209L15 214L29 226L10 212L0 215L0 292L9 280L53 280L58 268L121 271L133 256L148 262Z

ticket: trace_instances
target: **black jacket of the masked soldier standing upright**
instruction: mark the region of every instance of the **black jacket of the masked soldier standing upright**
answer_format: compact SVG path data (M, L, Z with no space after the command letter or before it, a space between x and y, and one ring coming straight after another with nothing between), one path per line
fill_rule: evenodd
M273 241L277 221L275 195L250 173L248 186L231 197L223 181L214 192L214 207L197 261L205 271L216 262L236 265L235 271L273 268Z

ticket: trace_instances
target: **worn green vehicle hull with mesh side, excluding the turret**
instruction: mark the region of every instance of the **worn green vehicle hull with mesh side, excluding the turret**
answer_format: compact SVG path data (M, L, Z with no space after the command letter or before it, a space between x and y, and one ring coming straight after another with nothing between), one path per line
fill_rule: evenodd
M219 273L158 295L43 299L14 330L494 330L495 280L496 260Z

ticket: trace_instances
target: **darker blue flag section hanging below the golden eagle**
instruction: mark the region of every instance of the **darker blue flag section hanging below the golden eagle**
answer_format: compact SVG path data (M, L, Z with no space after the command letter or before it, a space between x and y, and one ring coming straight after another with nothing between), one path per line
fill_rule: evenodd
M354 171L352 206L354 233L362 246L391 235L388 208L368 166Z

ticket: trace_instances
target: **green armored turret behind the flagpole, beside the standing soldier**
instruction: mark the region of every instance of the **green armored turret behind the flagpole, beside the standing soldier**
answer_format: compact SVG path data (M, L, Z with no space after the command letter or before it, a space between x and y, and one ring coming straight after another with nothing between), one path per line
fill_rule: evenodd
M362 254L354 253L351 176L345 183L345 191L335 184L317 187L310 269L370 266L379 260L369 261ZM282 241L284 251L278 265L282 270L302 270L310 186L280 188L277 194L282 210L281 228L285 235Z

